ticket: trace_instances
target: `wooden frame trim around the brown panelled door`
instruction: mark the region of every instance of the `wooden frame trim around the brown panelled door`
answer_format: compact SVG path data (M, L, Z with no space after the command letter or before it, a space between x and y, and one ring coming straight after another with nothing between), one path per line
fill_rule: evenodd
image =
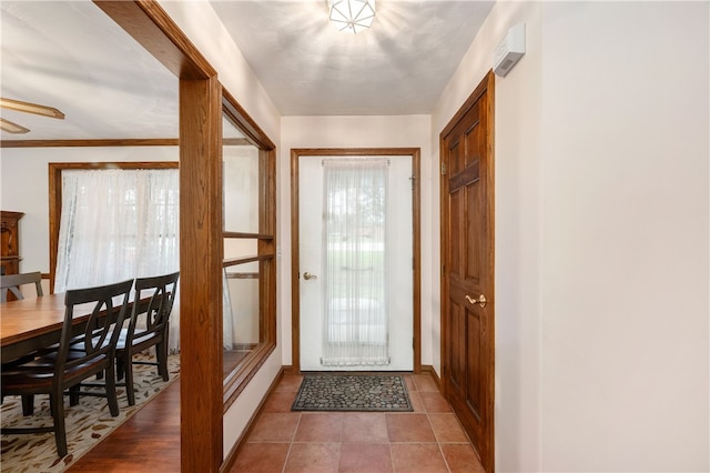
M493 70L489 70L484 78L480 80L480 83L476 87L476 89L471 92L471 94L466 99L464 104L458 109L458 111L452 117L450 121L446 124L444 130L442 130L439 134L439 169L450 169L448 162L448 154L445 152L445 138L448 133L450 133L454 128L458 124L458 122L466 115L466 113L470 110L470 108L480 99L484 93L487 94L486 113L488 114L487 120L487 129L485 133L487 134L487 172L485 175L486 180L486 189L487 189L487 199L484 204L487 209L487 224L489 229L489 241L487 242L487 251L489 254L489 264L488 268L485 268L487 271L487 278L490 282L490 296L488 298L488 305L486 310L488 311L489 316L487 318L488 324L485 326L486 336L489 340L488 351L484 353L484 359L487 360L489 371L486 380L486 400L485 405L483 407L487 422L485 424L485 429L481 435L483 444L485 446L484 452L478 452L481 456L481 463L487 472L495 471L495 420L494 420L494 410L495 410L495 83L496 78L494 76ZM449 221L449 212L448 212L448 174L444 172L439 175L439 214L440 214L440 261L442 261L442 278L440 278L440 333L442 333L442 344L440 344L440 360L442 360L442 390L443 395L446 397L446 376L448 366L447 363L447 354L446 346L448 345L448 321L446 319L446 314L449 310L448 308L448 296L449 296L449 288L448 288L448 270L446 269L446 254L447 254L447 242L449 242L448 235L448 221Z

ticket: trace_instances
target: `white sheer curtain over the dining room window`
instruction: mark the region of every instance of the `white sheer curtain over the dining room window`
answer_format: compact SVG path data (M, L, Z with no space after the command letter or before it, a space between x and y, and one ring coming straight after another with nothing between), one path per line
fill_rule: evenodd
M179 192L176 169L63 171L54 292L178 271ZM169 349L179 348L176 301Z

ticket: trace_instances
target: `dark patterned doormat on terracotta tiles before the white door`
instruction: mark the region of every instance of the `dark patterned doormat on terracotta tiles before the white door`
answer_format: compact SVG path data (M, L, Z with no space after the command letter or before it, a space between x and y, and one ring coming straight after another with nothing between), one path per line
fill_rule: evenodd
M306 374L292 411L413 411L400 374Z

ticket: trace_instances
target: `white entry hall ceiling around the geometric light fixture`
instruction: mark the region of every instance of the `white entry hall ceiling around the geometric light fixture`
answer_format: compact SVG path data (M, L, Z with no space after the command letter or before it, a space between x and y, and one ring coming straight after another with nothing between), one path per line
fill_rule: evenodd
M353 34L326 0L211 3L284 115L430 113L493 6L378 0Z

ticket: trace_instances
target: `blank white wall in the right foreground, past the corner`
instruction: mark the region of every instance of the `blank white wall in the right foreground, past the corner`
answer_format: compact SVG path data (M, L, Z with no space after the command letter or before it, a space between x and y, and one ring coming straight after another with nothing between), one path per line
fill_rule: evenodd
M709 6L545 4L545 470L710 467Z

